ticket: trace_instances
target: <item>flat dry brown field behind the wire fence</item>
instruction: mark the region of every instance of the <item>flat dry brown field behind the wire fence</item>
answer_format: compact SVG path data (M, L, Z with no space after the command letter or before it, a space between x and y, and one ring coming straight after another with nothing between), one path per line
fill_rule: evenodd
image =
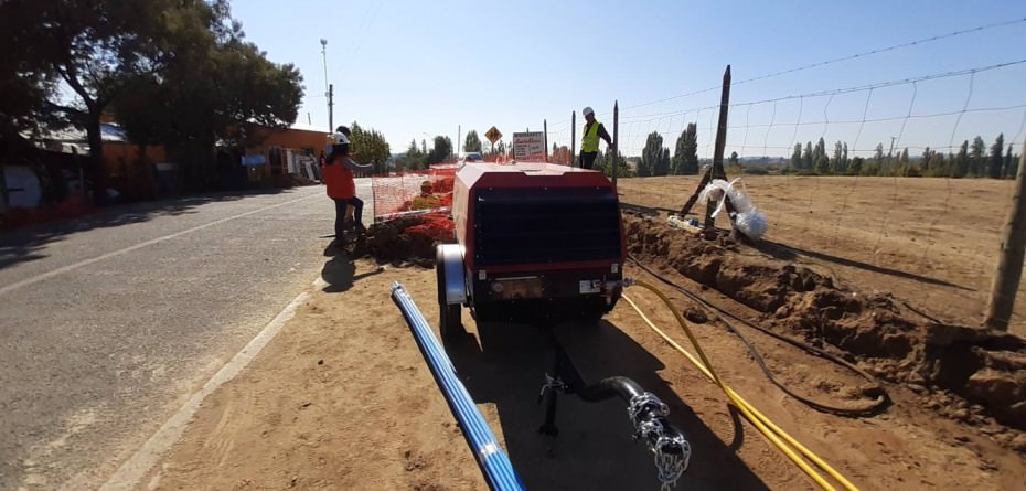
M749 175L744 182L769 217L767 239L787 247L772 252L778 258L894 293L947 321L983 319L1012 181ZM621 200L680 210L696 185L694 178L626 179ZM1011 331L1026 335L1026 299L1016 303Z

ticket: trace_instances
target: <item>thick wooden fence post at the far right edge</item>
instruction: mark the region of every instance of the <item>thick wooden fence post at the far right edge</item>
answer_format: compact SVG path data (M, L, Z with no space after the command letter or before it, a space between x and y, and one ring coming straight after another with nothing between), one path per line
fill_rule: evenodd
M987 300L983 324L1001 331L1008 330L1012 308L1015 307L1015 293L1023 277L1023 257L1026 253L1026 142L1019 156L1019 170L1015 178L1015 194L1012 196L1012 210L1001 239L1001 257L997 259L997 273L991 284L991 299Z

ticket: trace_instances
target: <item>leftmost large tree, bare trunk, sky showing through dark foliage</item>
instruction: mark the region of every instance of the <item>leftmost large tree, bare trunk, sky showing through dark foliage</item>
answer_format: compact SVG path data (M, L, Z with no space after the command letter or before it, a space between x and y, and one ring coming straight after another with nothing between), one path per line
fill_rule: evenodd
M173 0L62 1L8 0L0 6L6 40L7 78L23 76L21 84L0 83L4 111L31 114L43 109L53 122L86 130L89 158L85 171L94 191L106 186L103 166L100 116L136 77L160 71L174 55L165 41L189 25L182 19L212 9L205 2L183 4ZM34 46L31 44L35 44ZM20 51L23 50L23 51ZM9 64L10 63L10 64ZM54 89L63 84L66 90ZM11 99L12 95L31 99ZM17 106L21 106L18 110ZM25 113L29 110L29 113ZM19 116L19 115L14 115ZM18 124L15 118L14 124ZM105 192L94 192L103 202Z

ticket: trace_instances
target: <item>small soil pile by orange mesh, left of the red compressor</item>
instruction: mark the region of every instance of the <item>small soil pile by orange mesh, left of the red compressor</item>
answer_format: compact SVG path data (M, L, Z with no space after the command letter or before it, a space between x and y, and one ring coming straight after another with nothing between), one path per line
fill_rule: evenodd
M435 246L456 242L448 224L431 215L375 223L365 239L353 246L354 257L372 257L378 264L435 266Z

